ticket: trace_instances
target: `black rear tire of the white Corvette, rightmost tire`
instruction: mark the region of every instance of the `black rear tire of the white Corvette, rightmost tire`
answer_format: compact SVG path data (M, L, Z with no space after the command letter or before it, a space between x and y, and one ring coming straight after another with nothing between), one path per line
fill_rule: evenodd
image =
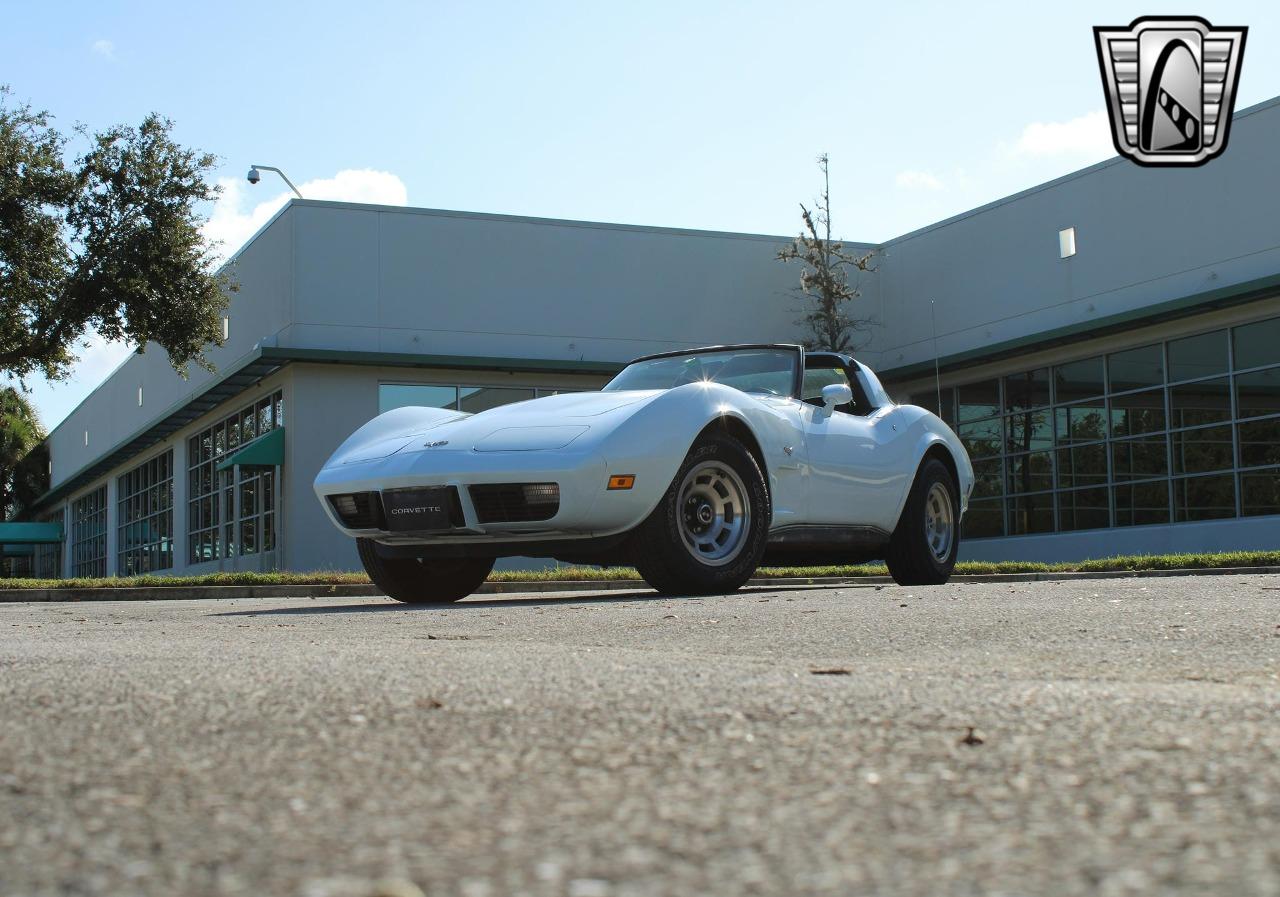
M931 544L928 530L928 505L941 503L942 496L934 489L945 490L950 500L950 539L946 543L945 557L938 558ZM928 458L915 473L911 493L897 521L897 528L888 541L884 563L888 573L900 586L937 586L951 577L956 566L956 553L960 549L960 500L956 481L951 471L937 458ZM937 520L937 509L934 509ZM936 537L936 532L934 532Z

